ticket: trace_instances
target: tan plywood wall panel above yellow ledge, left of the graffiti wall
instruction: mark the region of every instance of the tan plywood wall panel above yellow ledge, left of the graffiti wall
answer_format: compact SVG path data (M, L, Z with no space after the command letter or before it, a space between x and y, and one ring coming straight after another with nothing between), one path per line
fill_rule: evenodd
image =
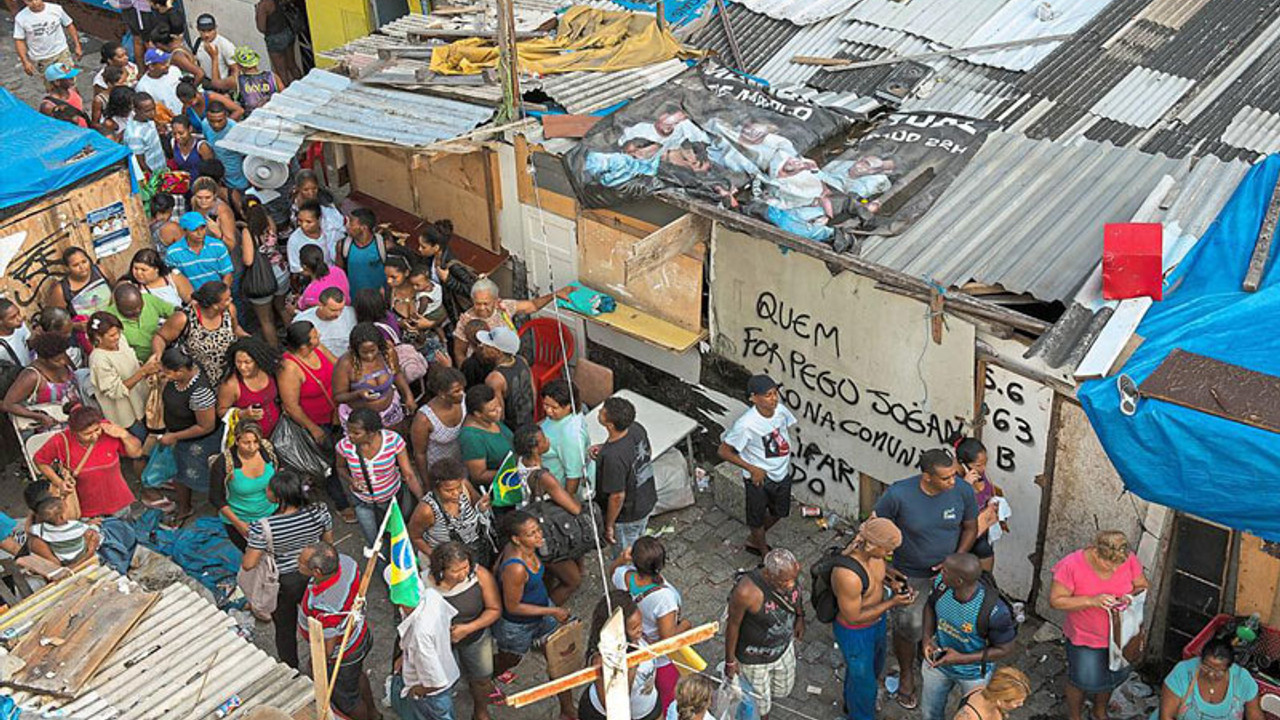
M618 302L686 331L701 332L705 242L648 272L627 277L626 260L632 249L658 229L658 225L607 210L582 211L577 222L579 279L613 295Z

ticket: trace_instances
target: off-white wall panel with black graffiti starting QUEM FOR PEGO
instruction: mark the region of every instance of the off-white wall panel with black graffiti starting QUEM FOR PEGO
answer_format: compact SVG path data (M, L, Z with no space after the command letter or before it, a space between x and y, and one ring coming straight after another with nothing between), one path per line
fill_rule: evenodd
M914 474L919 452L974 407L973 325L947 316L937 345L924 304L874 284L713 232L713 347L778 380L800 419L796 493L847 515L858 512L859 471L881 482Z

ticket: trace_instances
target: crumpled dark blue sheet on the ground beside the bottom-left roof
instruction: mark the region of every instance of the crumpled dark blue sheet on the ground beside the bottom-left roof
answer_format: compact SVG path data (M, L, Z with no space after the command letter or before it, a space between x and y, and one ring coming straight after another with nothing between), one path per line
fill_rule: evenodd
M163 514L147 510L134 523L138 543L168 556L200 584L212 591L219 607L236 592L241 551L227 539L227 530L216 516L200 518L184 528L160 527ZM238 605L243 605L241 601Z

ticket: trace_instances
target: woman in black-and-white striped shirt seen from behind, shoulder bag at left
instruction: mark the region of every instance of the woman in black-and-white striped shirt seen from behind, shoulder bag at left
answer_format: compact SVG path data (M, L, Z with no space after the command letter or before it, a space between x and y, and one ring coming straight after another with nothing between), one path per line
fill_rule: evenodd
M312 502L302 484L302 477L292 470L280 470L266 486L266 497L278 505L275 515L248 527L248 548L241 568L252 570L266 552L275 559L280 573L280 593L271 621L275 624L275 652L289 667L298 667L298 601L307 589L307 577L298 573L298 553L316 542L333 542L333 518L324 503ZM271 539L268 542L266 532Z

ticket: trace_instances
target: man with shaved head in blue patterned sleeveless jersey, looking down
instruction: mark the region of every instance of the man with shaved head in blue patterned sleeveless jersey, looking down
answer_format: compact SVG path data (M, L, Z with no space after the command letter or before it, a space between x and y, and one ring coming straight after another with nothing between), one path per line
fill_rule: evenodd
M924 662L920 710L924 720L943 720L947 697L982 688L996 661L1014 648L1012 609L969 552L948 555L924 603Z

